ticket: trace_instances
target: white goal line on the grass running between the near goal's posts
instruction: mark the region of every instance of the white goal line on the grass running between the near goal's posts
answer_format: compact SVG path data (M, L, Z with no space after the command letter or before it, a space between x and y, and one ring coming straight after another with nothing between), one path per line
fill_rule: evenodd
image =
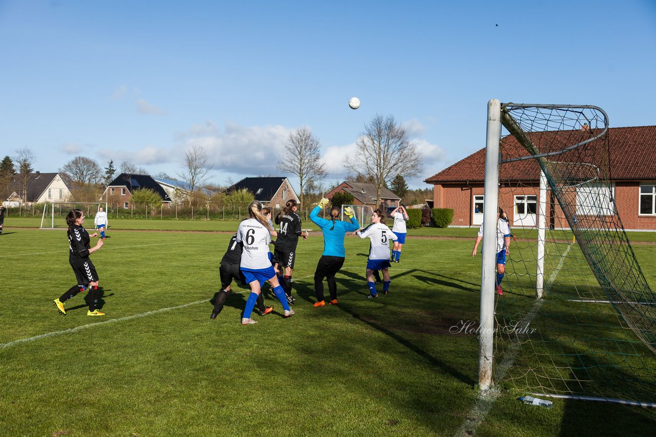
M572 245L570 243L569 246L567 246L567 250L565 250L563 256L560 257L560 263L558 263L558 267L556 267L551 276L549 276L548 283L552 284L554 280L556 280L556 276L558 276L558 272L560 269L562 269L563 263L565 262L565 256L567 256L569 253L571 246ZM522 326L522 328L520 328L520 332L522 332L521 329L524 327L528 328L529 324L531 324L535 314L537 313L537 310L542 306L542 302L543 301L541 300L535 301L535 305L533 305L531 312L526 314L522 322L520 322L520 325ZM495 379L501 380L506 376L506 373L508 373L508 370L514 364L515 358L520 351L520 345L519 343L512 343L508 349L509 351L506 354L506 358L501 362L501 364L499 364L499 366L497 366ZM461 427L458 428L454 435L456 437L467 437L476 434L476 430L478 427L480 427L481 423L483 423L483 420L485 420L485 417L487 417L487 414L500 395L501 392L497 392L493 389L487 390L486 392L481 392L476 405L470 409L469 413L466 415L464 423L462 423Z

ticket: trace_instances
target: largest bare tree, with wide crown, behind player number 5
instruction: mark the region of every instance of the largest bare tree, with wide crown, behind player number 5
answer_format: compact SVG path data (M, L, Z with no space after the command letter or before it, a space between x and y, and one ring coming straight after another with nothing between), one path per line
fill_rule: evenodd
M375 115L358 137L354 156L346 156L344 166L359 176L372 181L377 187L376 204L380 204L380 190L400 174L417 176L422 170L423 156L412 145L405 129L396 124L394 117Z

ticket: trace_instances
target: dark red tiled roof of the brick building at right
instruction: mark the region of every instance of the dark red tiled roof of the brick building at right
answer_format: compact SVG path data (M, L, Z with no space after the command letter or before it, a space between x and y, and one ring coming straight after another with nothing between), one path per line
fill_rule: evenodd
M596 133L593 132L592 133ZM573 145L586 140L590 136L587 130L566 130L551 132L529 132L527 136L541 151L547 153L560 149L563 145ZM607 132L609 141L610 174L613 181L618 180L656 180L656 126L634 126L625 128L609 128ZM601 157L598 147L594 147L596 140L562 155L559 160L575 160L581 162L599 162ZM529 153L517 142L514 136L509 135L501 140L502 159L523 157ZM586 156L585 154L590 154ZM603 160L605 161L605 160ZM525 161L506 162L501 164L500 178L510 181L537 181L539 179L539 166L534 159ZM445 168L438 174L424 180L426 183L447 182L482 182L485 180L485 149Z

